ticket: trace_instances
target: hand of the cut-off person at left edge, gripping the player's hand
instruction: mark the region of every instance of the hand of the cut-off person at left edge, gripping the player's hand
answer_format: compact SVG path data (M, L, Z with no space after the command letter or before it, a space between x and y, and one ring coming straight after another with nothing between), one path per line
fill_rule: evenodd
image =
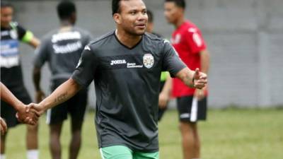
M16 117L19 122L31 125L37 124L40 113L34 108L30 109L27 105L23 105L22 107L19 107L17 111Z

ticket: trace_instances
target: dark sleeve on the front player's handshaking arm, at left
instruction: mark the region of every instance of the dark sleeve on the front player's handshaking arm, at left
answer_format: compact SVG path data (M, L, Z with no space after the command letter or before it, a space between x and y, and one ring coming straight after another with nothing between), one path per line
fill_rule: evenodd
M71 78L86 88L93 81L97 65L93 51L86 45Z

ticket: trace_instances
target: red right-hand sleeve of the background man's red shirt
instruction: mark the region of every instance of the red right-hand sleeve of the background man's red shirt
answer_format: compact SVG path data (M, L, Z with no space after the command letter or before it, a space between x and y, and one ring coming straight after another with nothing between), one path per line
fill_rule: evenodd
M193 54L197 54L207 48L202 33L197 28L188 28L186 41Z

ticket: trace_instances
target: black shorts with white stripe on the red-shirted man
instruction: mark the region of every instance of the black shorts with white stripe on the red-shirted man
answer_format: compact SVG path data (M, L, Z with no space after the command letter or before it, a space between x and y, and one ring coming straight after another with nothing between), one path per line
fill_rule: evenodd
M207 97L202 100L193 96L177 98L179 120L182 122L197 122L207 119Z

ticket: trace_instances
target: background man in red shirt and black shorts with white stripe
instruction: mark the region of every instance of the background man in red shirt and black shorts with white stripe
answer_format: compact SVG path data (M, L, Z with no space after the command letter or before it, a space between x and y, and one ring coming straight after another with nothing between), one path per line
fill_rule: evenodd
M184 0L166 0L165 16L175 26L172 45L190 69L200 68L207 73L209 53L200 30L186 20ZM177 98L180 131L185 159L200 158L200 136L197 121L207 116L207 86L202 89L187 88L179 79L173 79L173 96Z

